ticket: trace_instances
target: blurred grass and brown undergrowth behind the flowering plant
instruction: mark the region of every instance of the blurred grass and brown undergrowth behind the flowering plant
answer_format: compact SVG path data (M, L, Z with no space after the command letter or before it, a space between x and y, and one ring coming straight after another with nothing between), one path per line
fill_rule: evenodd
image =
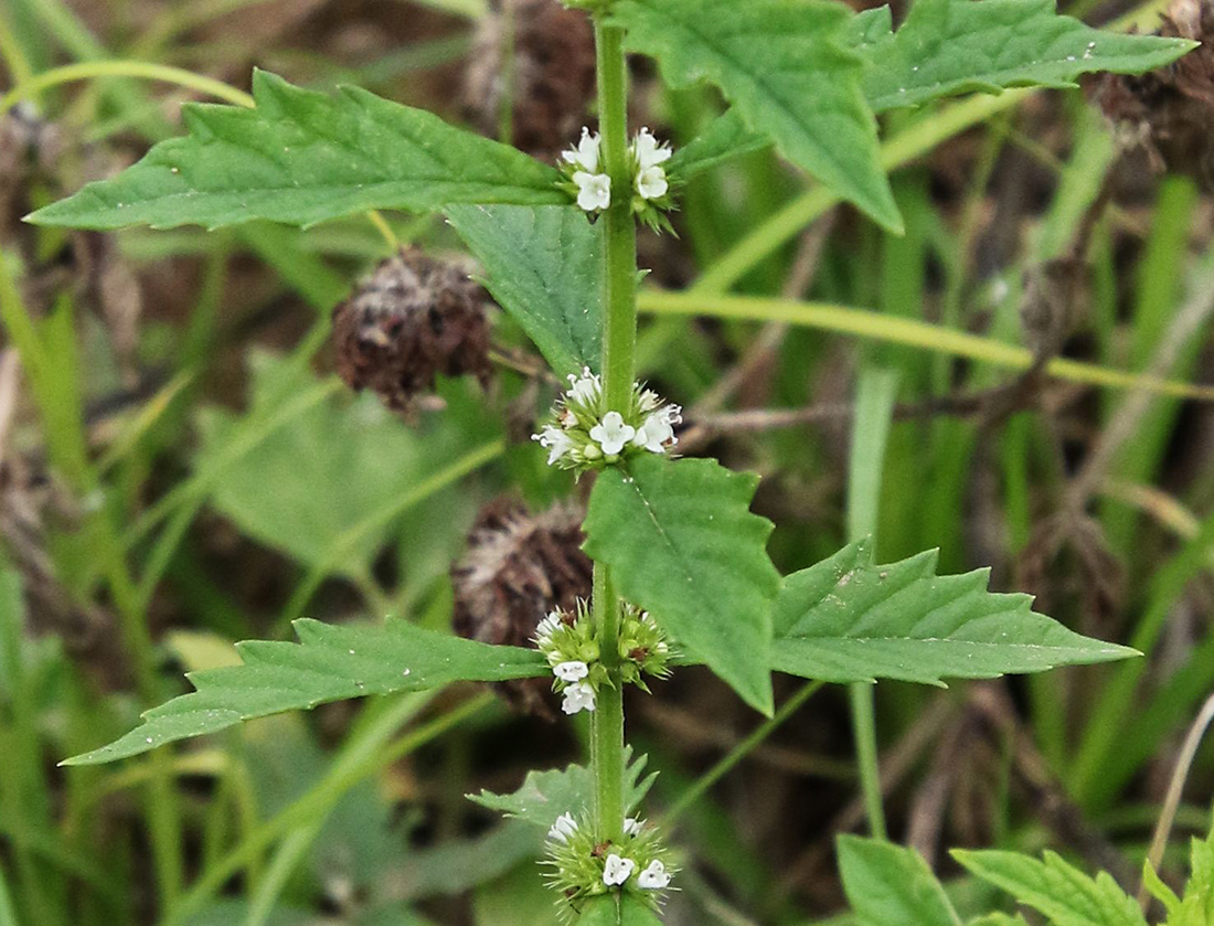
M1159 22L1157 6L1063 11ZM1214 34L1208 2L1173 16ZM527 441L555 386L492 309L486 387L439 376L393 415L335 375L330 311L388 242L465 266L450 229L403 215L219 233L19 220L176 133L183 101L237 101L254 66L357 84L551 159L594 121L582 15L555 0L5 0L0 57L0 924L551 922L537 835L464 795L577 761L579 729L472 687L56 768L185 691L183 671L234 660L237 640L289 638L295 618L450 626L467 608L452 564L486 555L469 552L483 506L498 505L492 527L503 496L538 513L584 494ZM878 688L892 835L969 910L986 899L949 846L1053 846L1133 890L1214 688L1212 393L1091 385L1067 365L1214 379L1203 61L1179 80L894 114L901 238L770 152L691 182L677 235L642 235L651 290L691 288L705 312L647 296L642 374L687 408L686 453L764 476L756 510L783 570L846 540L851 483L878 511L881 561L938 546L942 569L989 566L994 589L1146 654ZM720 109L642 62L634 79L635 124L676 144ZM728 289L818 309L765 317L721 302ZM864 312L868 336L834 330L852 318L839 307ZM895 342L887 319L934 328ZM878 459L849 473L861 369L897 376L884 472ZM861 409L861 433L880 426ZM472 610L464 632L500 638ZM649 816L697 788L673 820L687 870L669 921L839 914L833 836L863 828L845 693L745 742L761 718L708 674L657 693L629 695L630 740L662 769ZM1178 850L1207 830L1212 783L1207 748Z

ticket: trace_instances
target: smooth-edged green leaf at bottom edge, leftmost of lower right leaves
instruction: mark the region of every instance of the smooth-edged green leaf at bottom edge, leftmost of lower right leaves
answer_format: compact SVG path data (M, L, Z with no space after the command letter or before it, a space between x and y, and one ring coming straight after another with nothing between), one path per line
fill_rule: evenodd
M961 926L923 856L875 839L840 836L844 892L862 926Z

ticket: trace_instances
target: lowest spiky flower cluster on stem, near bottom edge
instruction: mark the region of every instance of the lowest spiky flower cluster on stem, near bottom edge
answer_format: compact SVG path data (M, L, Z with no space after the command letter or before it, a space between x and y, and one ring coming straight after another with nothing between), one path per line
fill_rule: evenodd
M629 891L658 908L677 873L669 851L645 820L629 817L623 833L619 842L601 841L573 814L556 818L548 831L546 864L552 868L551 885L568 901L571 914L586 898L613 890Z

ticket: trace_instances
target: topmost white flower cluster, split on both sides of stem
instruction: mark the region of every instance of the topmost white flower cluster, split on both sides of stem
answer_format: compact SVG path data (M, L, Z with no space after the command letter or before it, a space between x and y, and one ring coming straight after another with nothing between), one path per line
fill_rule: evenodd
M632 170L632 211L653 228L665 227L663 212L671 208L670 178L663 166L674 152L658 142L648 129L641 129L628 148ZM575 148L561 154L565 187L577 197L578 206L597 214L611 205L611 177L606 174L602 140L599 133L582 130Z

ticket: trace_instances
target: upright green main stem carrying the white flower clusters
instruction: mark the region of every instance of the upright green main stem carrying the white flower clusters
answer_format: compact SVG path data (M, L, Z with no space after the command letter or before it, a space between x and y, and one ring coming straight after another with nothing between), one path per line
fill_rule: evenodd
M611 205L603 215L603 396L607 408L631 402L636 363L636 223L632 165L628 153L628 66L624 33L595 19L599 68L599 130L611 177ZM624 692L619 672L619 600L607 567L595 563L594 619L608 684L601 686L590 723L595 778L595 831L618 841L624 825Z

